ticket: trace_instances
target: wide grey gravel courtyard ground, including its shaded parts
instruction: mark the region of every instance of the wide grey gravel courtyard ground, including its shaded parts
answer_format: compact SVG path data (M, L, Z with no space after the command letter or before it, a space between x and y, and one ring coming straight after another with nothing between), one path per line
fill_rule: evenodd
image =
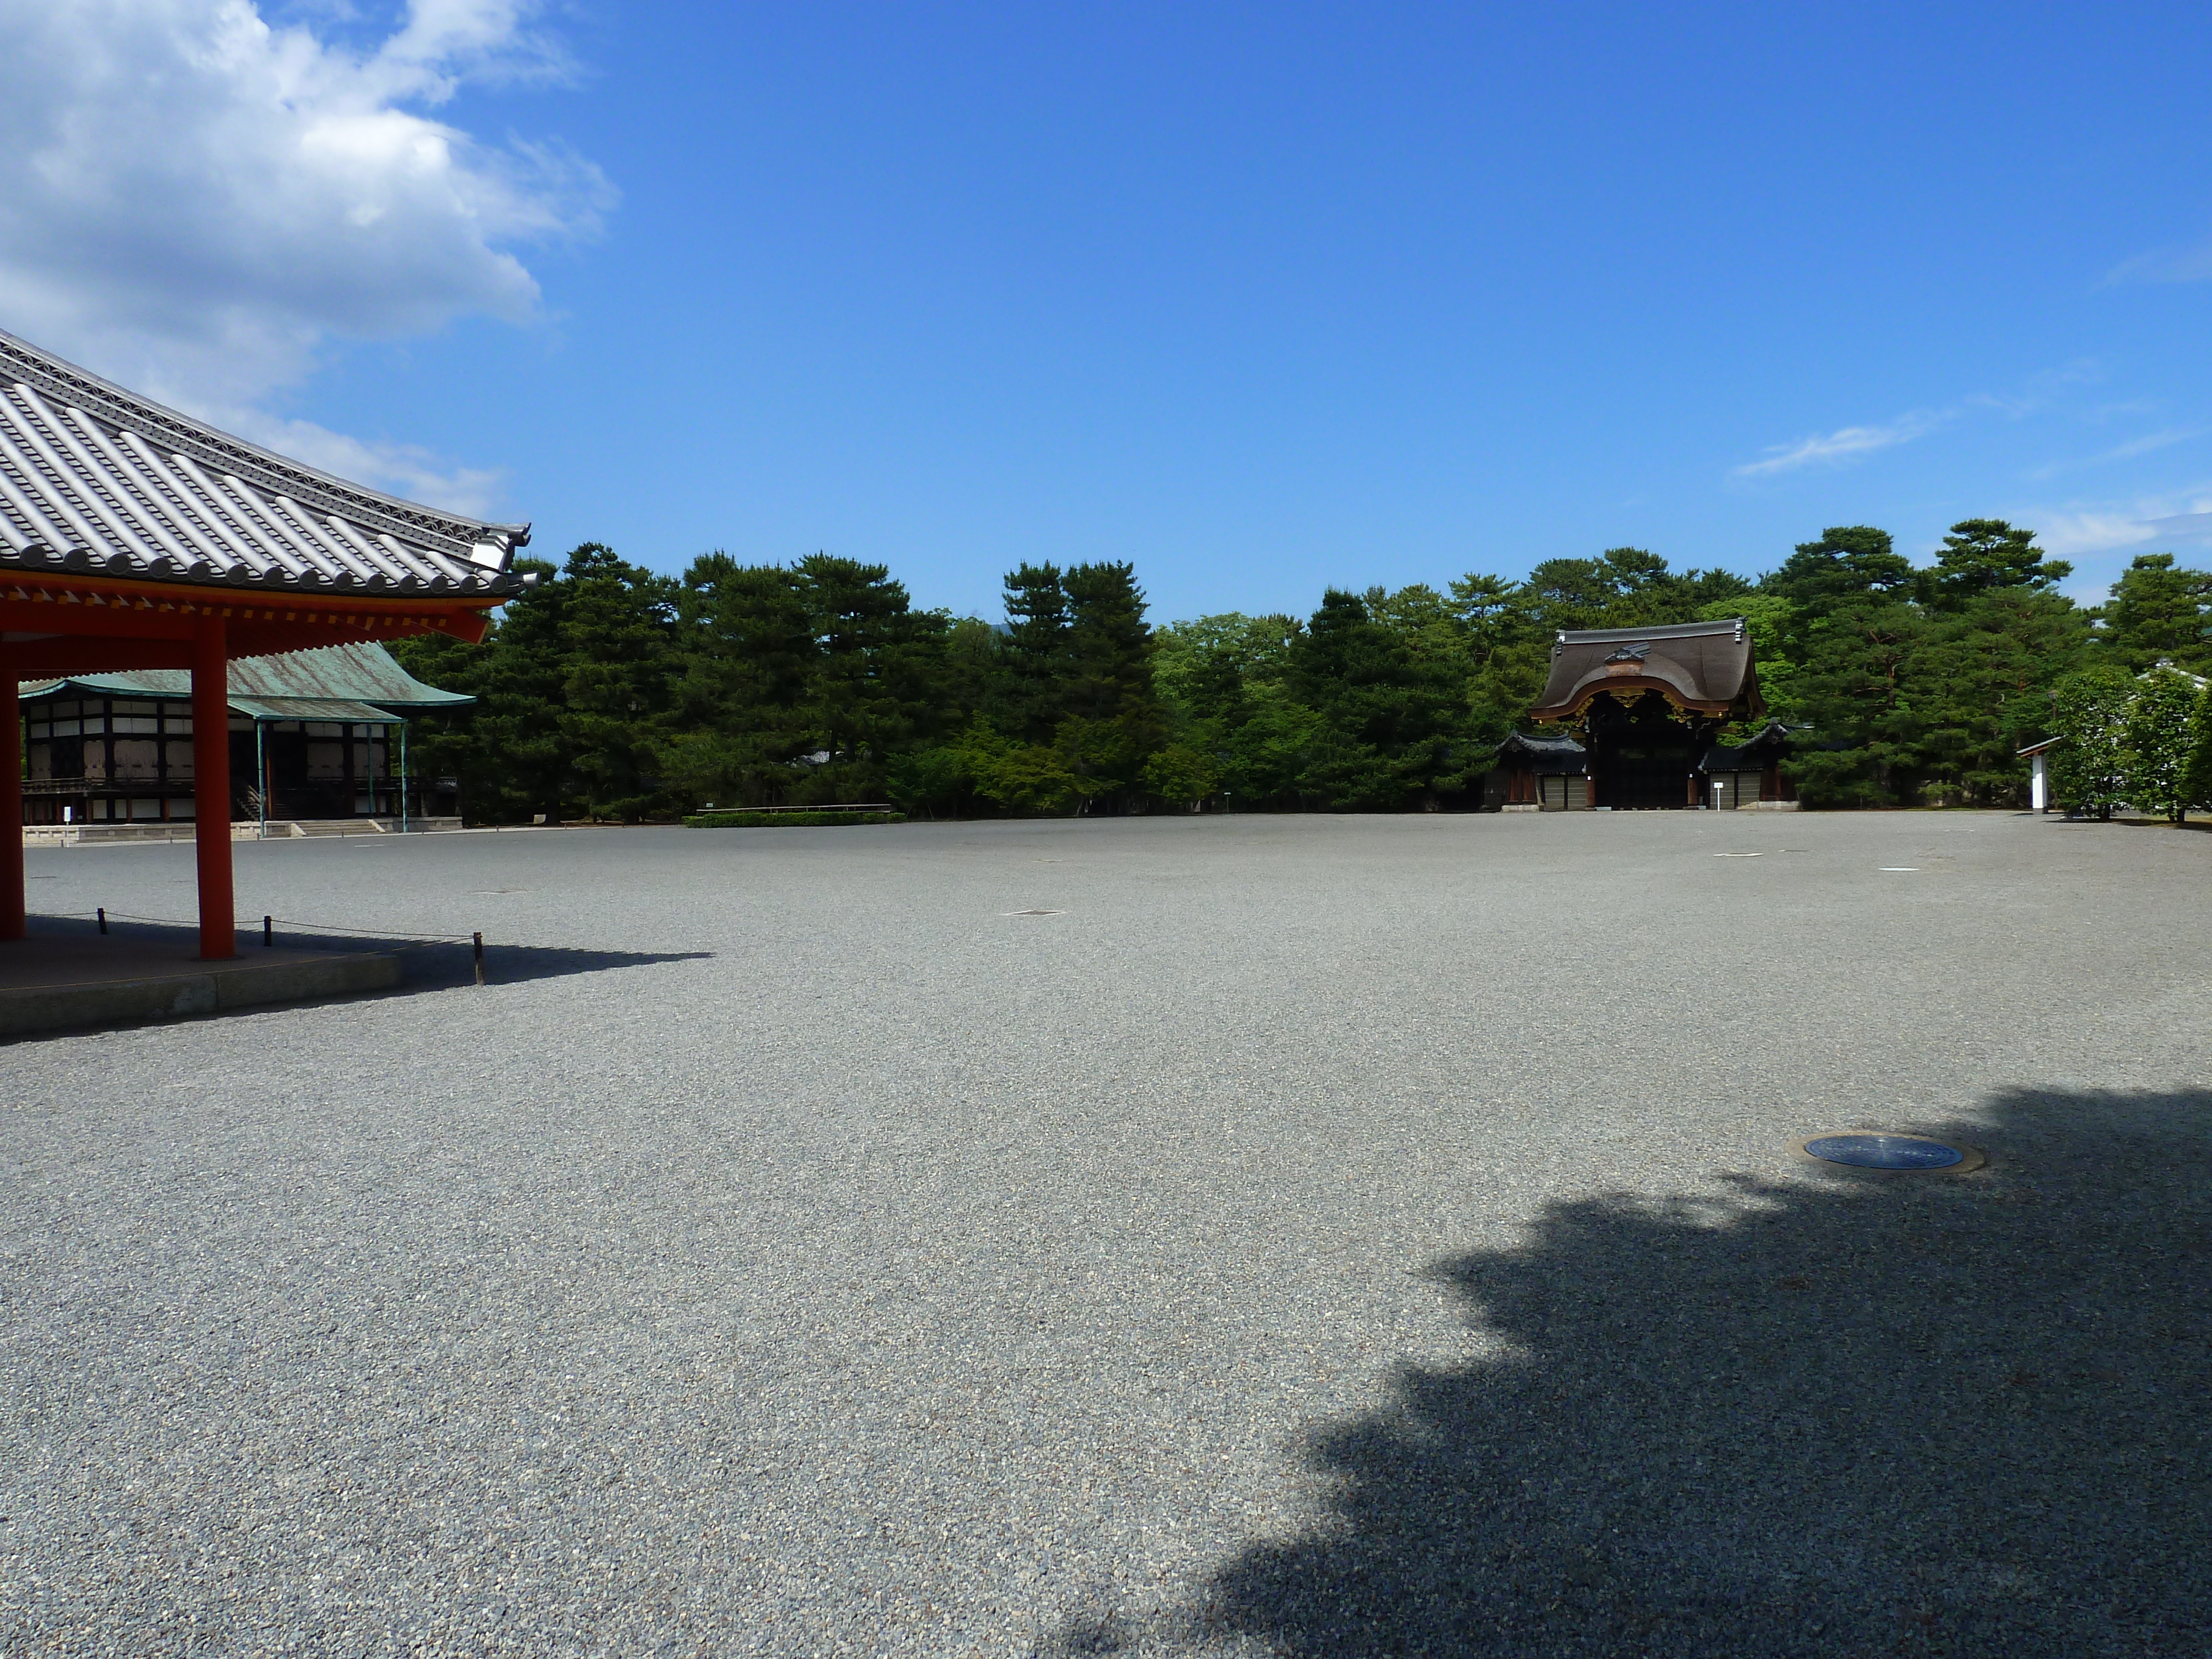
M2212 1652L2208 834L465 834L239 907L495 982L0 1048L7 1652Z

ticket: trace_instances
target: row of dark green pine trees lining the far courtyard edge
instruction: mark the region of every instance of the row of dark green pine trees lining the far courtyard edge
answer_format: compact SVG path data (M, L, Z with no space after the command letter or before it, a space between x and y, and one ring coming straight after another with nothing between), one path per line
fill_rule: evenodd
M416 739L473 821L1471 805L1559 628L1734 615L1772 714L1805 728L1807 805L2006 805L2017 750L2066 710L2161 661L2212 672L2212 575L2143 555L2084 608L2057 591L2070 568L2002 520L1953 526L1927 566L1843 526L1759 580L1613 549L1164 628L1115 562L1022 564L995 622L916 611L885 566L832 555L710 553L666 577L584 544L522 568L538 586L482 646L398 648L478 699Z

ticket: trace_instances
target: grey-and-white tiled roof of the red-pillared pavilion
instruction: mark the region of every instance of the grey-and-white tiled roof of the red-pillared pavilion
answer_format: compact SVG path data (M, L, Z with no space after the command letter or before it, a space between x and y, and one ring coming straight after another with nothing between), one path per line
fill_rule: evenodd
M0 332L0 571L493 599L529 524L285 460Z

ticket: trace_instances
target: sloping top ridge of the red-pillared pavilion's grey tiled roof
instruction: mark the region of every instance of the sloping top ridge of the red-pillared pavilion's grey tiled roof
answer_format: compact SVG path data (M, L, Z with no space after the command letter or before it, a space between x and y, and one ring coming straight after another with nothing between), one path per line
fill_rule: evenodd
M471 560L471 549L484 542L511 557L513 549L526 544L531 538L529 524L491 524L462 513L422 507L420 502L400 500L398 495L385 495L383 491L334 478L272 449L261 449L210 427L206 420L195 420L113 380L102 380L91 369L80 369L75 363L58 358L7 330L0 330L0 367L7 369L9 380L24 380L126 431L159 436L181 453L221 467L243 482L261 484L281 495L310 498L303 504L343 513L369 529L383 529L416 542L442 542L447 546L440 551L449 551L460 560Z

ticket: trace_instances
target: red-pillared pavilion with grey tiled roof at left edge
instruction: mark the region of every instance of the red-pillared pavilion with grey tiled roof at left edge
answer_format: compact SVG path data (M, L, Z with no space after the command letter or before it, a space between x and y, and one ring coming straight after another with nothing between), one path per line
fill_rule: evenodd
M420 633L482 639L491 611L531 582L513 568L526 540L526 524L349 484L0 334L0 940L24 936L20 681L148 668L184 677L190 732L175 743L192 750L199 953L230 958L232 659ZM86 699L49 701L49 772L55 726L71 719L55 706L77 701L82 743ZM150 719L155 730L95 737L157 743L157 781L181 761L166 714L115 712L106 692L100 701L91 719ZM374 765L374 739L361 741ZM117 763L113 748L102 761Z

